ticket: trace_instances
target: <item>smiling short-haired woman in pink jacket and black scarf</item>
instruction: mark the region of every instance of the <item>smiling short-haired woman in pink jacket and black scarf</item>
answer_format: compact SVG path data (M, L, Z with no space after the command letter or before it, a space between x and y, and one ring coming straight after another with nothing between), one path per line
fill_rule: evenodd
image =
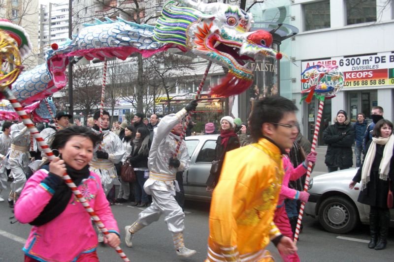
M120 244L119 229L101 187L99 176L89 172L89 162L99 137L82 126L58 131L52 149L59 151L49 164L26 182L15 204L15 217L33 228L23 248L25 262L96 262L97 234L90 215L62 179L65 172L108 229L104 239Z

